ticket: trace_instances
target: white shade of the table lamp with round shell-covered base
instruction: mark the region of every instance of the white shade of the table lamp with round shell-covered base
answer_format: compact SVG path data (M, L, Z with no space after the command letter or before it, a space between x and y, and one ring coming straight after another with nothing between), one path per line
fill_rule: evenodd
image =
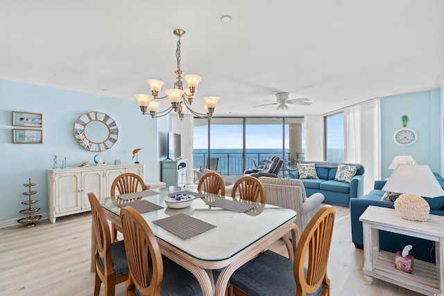
M423 198L436 198L444 195L444 190L429 166L412 164L399 164L382 190L420 195Z

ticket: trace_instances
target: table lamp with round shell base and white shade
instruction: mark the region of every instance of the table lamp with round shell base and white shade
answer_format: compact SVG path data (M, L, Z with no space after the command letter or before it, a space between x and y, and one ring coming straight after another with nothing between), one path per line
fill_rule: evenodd
M444 195L429 166L399 164L382 187L384 191L404 193L395 200L395 210L401 218L425 221L430 207L424 198Z

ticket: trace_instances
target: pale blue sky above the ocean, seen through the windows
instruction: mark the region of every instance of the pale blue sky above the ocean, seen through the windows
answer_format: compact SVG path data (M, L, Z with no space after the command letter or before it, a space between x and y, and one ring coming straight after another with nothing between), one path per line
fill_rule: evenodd
M343 114L330 116L327 119L329 148L343 148ZM211 148L241 149L242 125L211 125ZM207 125L194 127L194 148L207 149ZM247 149L282 149L282 125L247 125ZM302 147L305 146L304 130L302 128ZM285 148L289 147L288 128L285 130Z

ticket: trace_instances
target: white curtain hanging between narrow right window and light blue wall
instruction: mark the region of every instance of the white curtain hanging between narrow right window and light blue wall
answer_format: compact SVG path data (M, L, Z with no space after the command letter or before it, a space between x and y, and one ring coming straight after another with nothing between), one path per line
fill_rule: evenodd
M364 165L364 194L379 180L379 98L343 110L345 162Z

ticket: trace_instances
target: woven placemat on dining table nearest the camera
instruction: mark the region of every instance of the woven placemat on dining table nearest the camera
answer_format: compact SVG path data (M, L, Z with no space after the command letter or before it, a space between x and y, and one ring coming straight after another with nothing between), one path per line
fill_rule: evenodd
M155 220L153 223L182 239L196 236L216 227L215 225L206 223L205 221L185 214L177 214L167 218Z

